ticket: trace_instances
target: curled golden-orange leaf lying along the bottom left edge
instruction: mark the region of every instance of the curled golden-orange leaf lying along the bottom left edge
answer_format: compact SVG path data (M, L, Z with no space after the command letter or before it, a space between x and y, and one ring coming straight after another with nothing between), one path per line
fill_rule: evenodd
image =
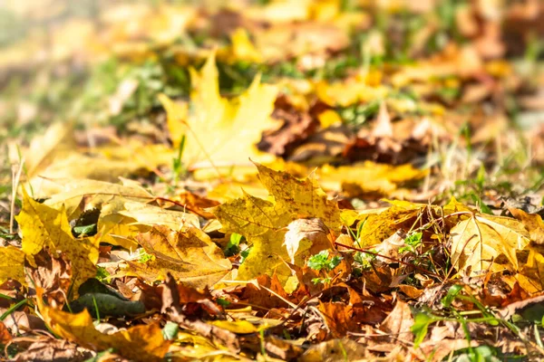
M157 323L131 327L126 330L103 334L94 328L87 310L72 314L44 305L36 299L44 322L60 337L92 350L115 348L122 357L135 361L160 361L170 348Z

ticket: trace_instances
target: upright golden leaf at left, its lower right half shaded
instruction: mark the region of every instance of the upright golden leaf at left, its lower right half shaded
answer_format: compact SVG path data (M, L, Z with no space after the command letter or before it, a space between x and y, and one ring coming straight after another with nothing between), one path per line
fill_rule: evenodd
M96 275L98 262L98 237L76 240L63 208L55 210L34 201L24 192L23 209L16 216L23 234L22 251L32 256L48 247L59 255L63 252L72 262L73 291L89 278Z

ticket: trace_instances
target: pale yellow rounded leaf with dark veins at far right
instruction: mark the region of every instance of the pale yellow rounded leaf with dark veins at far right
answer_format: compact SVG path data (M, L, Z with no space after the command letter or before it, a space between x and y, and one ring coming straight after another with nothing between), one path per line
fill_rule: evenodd
M492 215L473 214L455 225L450 235L452 265L462 272L470 269L470 276L488 270L517 271L516 251L530 243L529 232L519 221Z

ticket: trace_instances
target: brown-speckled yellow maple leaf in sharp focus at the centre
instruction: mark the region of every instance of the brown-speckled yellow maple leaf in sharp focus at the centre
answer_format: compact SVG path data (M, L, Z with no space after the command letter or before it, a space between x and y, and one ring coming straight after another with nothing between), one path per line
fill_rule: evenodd
M274 171L256 164L260 181L274 198L274 202L252 195L244 195L212 209L223 231L239 233L253 244L246 261L238 270L239 280L250 280L258 275L273 275L285 282L290 271L284 260L294 258L296 265L303 265L306 257L323 250L323 243L312 249L313 243L296 245L287 241L287 225L297 219L319 218L332 233L342 226L340 210L334 201L328 200L316 180L298 180L286 172ZM300 242L300 239L297 240ZM280 269L277 269L280 268Z

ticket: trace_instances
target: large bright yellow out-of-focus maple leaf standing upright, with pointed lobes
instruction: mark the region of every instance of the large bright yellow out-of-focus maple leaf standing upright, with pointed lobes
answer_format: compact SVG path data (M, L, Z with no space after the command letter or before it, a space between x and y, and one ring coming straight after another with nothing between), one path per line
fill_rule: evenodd
M233 166L248 157L263 159L255 145L264 129L274 127L270 114L274 109L277 87L260 84L257 76L243 94L227 100L219 94L219 74L212 53L200 72L190 70L193 90L191 112L175 106L168 97L160 101L167 111L169 129L174 141L186 136L183 161L188 167ZM177 120L176 121L174 120ZM179 143L174 143L179 147Z

